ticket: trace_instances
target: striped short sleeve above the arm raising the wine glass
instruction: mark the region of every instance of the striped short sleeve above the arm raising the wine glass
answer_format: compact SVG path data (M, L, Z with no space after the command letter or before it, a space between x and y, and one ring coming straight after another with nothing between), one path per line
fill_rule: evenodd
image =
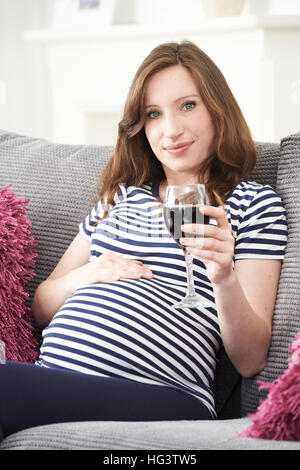
M283 259L287 243L286 212L270 186L260 186L239 219L234 259Z

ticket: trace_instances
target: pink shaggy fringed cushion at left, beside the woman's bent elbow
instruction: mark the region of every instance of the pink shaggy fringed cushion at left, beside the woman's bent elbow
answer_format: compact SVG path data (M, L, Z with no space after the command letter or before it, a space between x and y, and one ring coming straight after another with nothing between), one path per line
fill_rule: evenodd
M0 190L0 339L6 345L6 359L18 362L34 362L38 351L24 290L34 276L37 256L27 203L9 186Z

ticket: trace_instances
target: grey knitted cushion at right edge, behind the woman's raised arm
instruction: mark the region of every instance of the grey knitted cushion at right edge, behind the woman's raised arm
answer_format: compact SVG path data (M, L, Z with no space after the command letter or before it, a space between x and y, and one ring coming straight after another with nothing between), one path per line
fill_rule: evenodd
M282 265L273 319L268 364L262 373L242 384L242 413L254 412L266 393L257 380L272 382L287 367L288 346L300 331L300 133L281 142L276 190L287 211L288 245Z

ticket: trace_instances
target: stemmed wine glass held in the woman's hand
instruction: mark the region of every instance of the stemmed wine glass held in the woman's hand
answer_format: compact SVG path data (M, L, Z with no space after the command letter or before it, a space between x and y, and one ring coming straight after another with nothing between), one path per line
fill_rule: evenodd
M204 184L183 184L167 186L163 205L164 221L167 230L179 243L181 237L204 238L204 224L209 224L209 217L200 212L200 208L209 204ZM182 232L183 224L199 224L198 233ZM201 230L201 227L203 230ZM182 245L187 273L187 293L181 302L173 305L175 308L184 307L211 307L212 304L197 294L193 279L193 255L188 253Z

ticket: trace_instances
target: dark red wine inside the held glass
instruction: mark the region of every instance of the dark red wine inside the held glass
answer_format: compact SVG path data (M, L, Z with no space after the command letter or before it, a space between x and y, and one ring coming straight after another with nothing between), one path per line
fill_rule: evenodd
M182 232L183 224L209 224L209 216L200 212L200 205L164 206L164 220L167 230L179 243L181 237L202 237L200 233Z

